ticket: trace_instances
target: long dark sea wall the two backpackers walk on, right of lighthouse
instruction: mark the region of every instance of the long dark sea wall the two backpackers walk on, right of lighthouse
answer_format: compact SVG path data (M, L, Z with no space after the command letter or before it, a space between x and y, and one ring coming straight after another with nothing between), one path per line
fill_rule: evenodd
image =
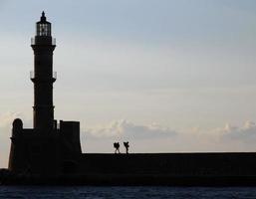
M83 154L83 174L256 176L256 153Z

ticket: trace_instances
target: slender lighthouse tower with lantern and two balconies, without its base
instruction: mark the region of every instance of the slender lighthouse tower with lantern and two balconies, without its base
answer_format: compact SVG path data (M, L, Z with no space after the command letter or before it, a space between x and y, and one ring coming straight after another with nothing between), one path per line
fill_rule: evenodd
M31 47L34 51L34 72L31 73L34 83L34 128L41 134L47 134L54 128L53 83L56 73L53 73L53 52L56 45L51 35L51 23L46 20L44 12L36 24L36 36Z

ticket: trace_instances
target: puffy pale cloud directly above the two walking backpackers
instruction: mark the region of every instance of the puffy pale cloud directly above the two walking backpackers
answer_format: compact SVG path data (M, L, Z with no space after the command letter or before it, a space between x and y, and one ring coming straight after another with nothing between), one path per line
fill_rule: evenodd
M129 139L159 138L176 134L169 127L164 127L157 123L148 125L135 124L126 119L115 120L107 125L101 125L95 128L86 128L84 131L93 137Z

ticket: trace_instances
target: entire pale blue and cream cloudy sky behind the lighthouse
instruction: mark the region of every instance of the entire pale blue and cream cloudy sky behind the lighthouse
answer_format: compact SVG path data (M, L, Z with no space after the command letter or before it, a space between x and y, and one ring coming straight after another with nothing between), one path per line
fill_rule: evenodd
M256 150L255 0L0 0L0 167L13 119L32 127L43 10L55 117L81 121L84 152Z

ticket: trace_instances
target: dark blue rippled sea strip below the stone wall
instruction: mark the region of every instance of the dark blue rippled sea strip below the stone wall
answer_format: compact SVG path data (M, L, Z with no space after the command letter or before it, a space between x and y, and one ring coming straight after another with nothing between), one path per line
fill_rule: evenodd
M0 186L0 198L256 198L256 187L42 187Z

